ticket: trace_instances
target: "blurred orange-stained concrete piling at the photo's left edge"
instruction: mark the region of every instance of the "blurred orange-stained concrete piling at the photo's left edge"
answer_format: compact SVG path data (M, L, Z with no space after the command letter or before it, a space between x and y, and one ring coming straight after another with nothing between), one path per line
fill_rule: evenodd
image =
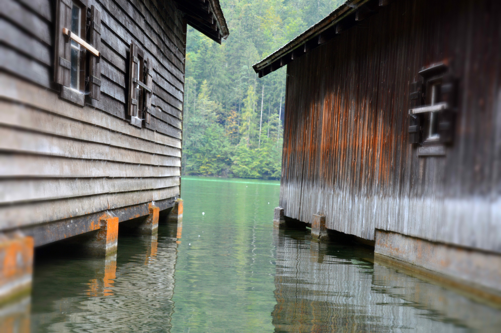
M0 302L29 293L33 273L33 238L0 234Z

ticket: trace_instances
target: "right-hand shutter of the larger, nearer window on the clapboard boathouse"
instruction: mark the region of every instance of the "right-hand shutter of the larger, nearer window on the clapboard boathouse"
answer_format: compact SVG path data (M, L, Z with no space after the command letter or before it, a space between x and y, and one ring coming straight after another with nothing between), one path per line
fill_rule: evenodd
M91 7L90 44L101 52L101 12ZM101 99L101 64L100 58L90 55L89 95L95 100Z

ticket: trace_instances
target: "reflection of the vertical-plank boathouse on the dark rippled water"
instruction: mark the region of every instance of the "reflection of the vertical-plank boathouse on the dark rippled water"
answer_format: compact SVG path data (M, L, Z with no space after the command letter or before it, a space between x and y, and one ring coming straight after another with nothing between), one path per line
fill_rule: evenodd
M351 244L275 231L276 332L498 331L497 309L378 263Z

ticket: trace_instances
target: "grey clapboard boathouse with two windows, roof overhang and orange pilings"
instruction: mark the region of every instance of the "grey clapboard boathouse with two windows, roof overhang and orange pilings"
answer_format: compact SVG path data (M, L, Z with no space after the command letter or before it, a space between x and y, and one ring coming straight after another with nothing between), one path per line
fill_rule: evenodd
M0 297L33 246L94 231L109 254L176 204L187 24L228 36L218 0L2 2Z

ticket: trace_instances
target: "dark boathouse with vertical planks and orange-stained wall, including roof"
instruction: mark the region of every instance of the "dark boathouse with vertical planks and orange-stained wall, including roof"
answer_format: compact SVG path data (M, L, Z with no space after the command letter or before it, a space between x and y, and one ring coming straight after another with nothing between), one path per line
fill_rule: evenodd
M500 301L500 15L491 0L349 0L254 65L287 65L277 222Z

